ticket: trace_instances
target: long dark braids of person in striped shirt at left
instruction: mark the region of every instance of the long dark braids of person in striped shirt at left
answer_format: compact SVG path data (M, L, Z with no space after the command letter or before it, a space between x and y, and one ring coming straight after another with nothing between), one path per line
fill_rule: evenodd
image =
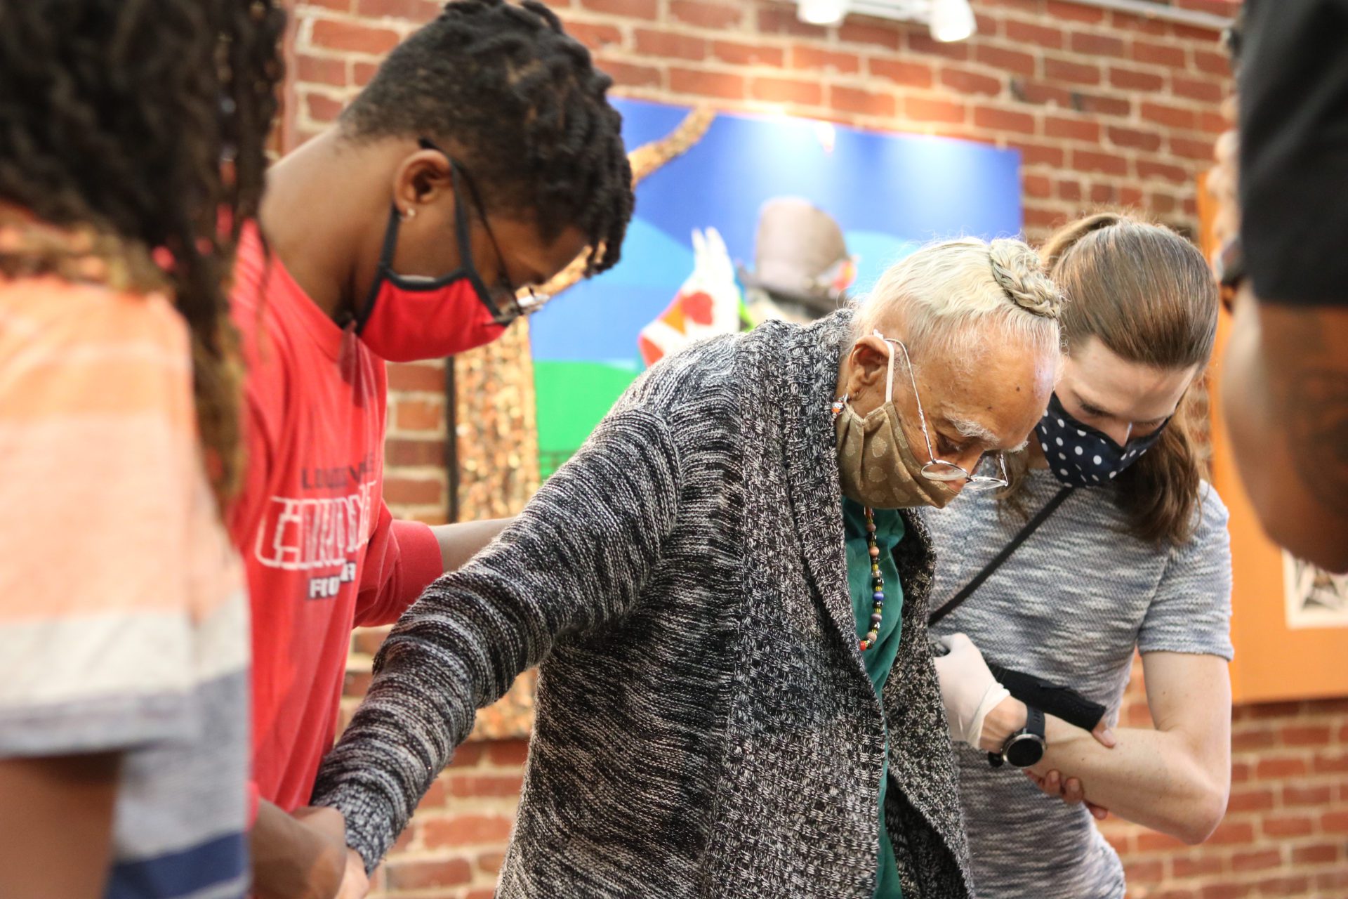
M0 201L81 236L65 253L0 252L0 271L96 256L119 288L173 292L221 497L240 472L225 282L263 190L283 28L276 0L0 3Z

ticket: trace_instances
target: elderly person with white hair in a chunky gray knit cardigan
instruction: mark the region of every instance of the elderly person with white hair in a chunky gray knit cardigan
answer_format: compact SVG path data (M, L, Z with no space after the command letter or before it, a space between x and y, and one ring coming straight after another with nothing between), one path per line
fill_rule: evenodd
M911 511L1004 484L1060 367L1019 241L662 361L375 662L314 801L373 868L541 664L497 895L972 895Z

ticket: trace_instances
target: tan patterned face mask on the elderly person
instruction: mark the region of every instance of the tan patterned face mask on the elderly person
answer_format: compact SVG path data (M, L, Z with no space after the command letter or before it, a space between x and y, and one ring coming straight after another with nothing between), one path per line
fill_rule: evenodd
M922 476L922 462L913 454L894 407L894 346L888 341L884 345L890 350L884 403L865 418L856 414L847 396L833 404L842 495L869 508L945 508L960 491Z

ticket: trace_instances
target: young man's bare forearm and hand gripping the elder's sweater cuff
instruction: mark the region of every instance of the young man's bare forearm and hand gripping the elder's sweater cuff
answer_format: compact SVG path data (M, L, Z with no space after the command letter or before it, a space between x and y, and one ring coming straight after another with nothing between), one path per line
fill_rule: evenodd
M270 802L257 806L249 840L257 899L332 899L346 865L345 848Z

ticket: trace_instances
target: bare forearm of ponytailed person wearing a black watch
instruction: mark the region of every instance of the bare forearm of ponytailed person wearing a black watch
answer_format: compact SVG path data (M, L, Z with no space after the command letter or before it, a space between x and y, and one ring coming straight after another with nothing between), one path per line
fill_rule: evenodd
M1024 724L1019 700L1003 706L988 716L987 749L1000 747L1004 735ZM1088 802L1189 844L1206 840L1225 814L1229 771L1209 770L1185 735L1122 728L1112 732L1116 743L1109 748L1089 731L1046 717L1049 749L1034 774L1076 778Z

